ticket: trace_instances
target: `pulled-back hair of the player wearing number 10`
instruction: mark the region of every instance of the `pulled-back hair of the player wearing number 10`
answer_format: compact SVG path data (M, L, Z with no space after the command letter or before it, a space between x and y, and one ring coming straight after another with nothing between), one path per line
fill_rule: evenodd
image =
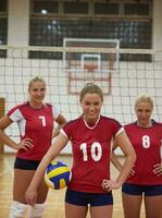
M80 94L79 94L79 101L83 100L84 96L89 93L89 94L98 94L101 98L101 100L103 101L103 93L101 90L101 88L94 84L94 83L87 83L83 89L80 90Z

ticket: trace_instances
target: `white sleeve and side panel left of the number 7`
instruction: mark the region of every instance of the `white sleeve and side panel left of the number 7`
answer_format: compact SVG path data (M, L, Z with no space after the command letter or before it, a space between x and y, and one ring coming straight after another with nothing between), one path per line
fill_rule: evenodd
M26 120L24 119L22 112L20 109L16 109L13 113L11 113L10 119L14 122L17 122L21 135L25 135L25 126L26 126Z

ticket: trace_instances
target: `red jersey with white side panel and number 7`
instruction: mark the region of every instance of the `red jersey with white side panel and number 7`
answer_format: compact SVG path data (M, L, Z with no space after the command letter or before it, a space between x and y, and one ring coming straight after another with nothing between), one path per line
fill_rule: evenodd
M7 116L17 123L21 140L33 140L34 146L27 152L20 149L17 157L41 160L51 145L53 120L59 116L54 107L43 104L41 109L34 109L29 102L24 102L12 108Z

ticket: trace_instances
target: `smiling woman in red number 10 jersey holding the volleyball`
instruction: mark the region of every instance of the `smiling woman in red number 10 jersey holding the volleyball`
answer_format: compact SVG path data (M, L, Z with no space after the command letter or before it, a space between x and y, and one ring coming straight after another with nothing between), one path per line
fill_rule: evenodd
M68 141L72 142L72 180L65 195L65 217L86 218L90 206L91 218L111 218L112 190L119 189L127 178L135 152L122 125L114 119L100 114L103 94L95 84L87 84L79 96L83 114L68 122L39 165L26 192L26 201L35 205L38 186L46 168ZM115 181L110 179L111 141L115 138L126 156L124 168ZM104 179L109 184L102 187Z

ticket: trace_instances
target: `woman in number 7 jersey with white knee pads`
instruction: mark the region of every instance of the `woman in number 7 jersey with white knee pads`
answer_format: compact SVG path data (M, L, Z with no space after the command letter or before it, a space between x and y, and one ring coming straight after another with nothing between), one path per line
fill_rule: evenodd
M28 94L28 101L15 106L0 120L0 140L17 150L14 162L13 202L10 218L25 216L28 208L25 192L40 160L51 145L53 122L58 123L53 136L58 135L59 130L65 124L64 117L58 113L52 105L43 102L46 83L42 78L30 80ZM20 129L21 141L18 143L4 133L4 129L13 122L16 122ZM41 181L36 205L30 209L30 218L42 217L47 192L48 189Z

